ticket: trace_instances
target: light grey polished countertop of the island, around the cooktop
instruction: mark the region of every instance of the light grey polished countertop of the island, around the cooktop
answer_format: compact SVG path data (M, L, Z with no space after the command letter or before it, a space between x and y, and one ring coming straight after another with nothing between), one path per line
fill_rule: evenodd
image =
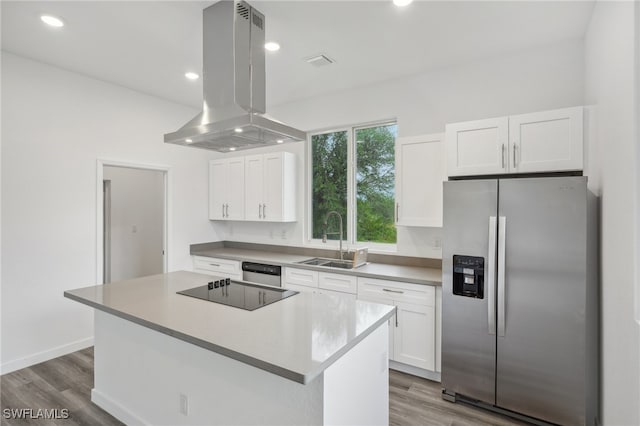
M65 297L306 384L393 316L393 306L299 293L255 311L176 294L208 275L178 271L65 291Z

